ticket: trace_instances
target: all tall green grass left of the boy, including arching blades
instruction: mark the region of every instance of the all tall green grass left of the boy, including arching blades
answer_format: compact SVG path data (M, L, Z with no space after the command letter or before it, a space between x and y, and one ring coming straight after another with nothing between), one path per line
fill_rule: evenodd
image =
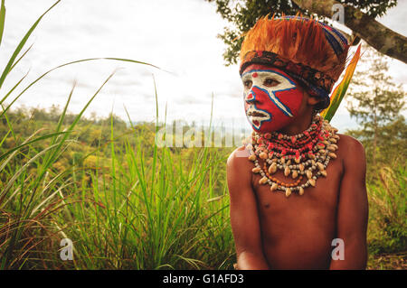
M17 60L38 23L59 2L24 35L2 73L0 88L30 50ZM4 27L3 0L1 36ZM71 61L52 70L88 60ZM83 163L96 156L94 167L86 169L74 163L58 171L52 164L75 143L72 131L80 116L112 75L71 125L63 123L74 87L54 131L40 129L21 139L14 133L7 111L52 70L27 85L8 106L3 106L5 100L14 95L26 75L0 100L0 120L8 127L8 132L0 135L0 269L231 267L233 247L226 188L224 181L219 183L216 177L223 170L225 153L196 148L182 156L185 151L144 144L143 133L114 135L111 124L109 144L100 145L80 159ZM5 150L10 135L14 147ZM117 145L118 137L125 137L124 146ZM102 161L106 149L111 153L108 167ZM74 243L71 262L62 261L59 255L64 237Z

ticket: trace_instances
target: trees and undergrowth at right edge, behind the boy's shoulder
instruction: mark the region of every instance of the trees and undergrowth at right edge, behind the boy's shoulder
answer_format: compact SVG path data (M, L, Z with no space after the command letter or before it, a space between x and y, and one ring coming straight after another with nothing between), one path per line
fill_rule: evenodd
M359 139L366 153L369 252L398 253L405 257L407 123L402 116L405 93L388 76L383 55L368 49L362 61L369 65L355 73L347 106L360 128L347 134ZM383 257L374 259L381 261Z

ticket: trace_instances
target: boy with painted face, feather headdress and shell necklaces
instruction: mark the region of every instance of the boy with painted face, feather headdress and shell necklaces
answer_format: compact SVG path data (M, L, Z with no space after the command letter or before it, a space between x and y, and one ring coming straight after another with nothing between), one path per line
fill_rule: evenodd
M364 148L317 116L348 47L334 28L298 16L262 18L245 36L254 132L227 163L238 269L365 268Z

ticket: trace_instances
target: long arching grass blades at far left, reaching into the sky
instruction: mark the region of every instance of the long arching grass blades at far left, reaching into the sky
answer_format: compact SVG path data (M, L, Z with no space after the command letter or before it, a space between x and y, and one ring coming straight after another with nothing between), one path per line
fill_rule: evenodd
M5 69L2 71L0 88L3 88L3 84L9 73L14 70L14 67L24 58L26 53L30 51L32 46L25 51L24 46L43 19L43 16L49 13L52 8L60 2L61 0L56 1L33 23L28 32L24 34L24 37L18 43L5 65ZM6 14L5 0L2 0L0 9L0 40L3 40ZM19 56L22 51L24 51L24 53ZM137 60L118 58L104 59L154 66ZM54 244L58 232L63 234L63 231L55 231L54 228L58 227L58 224L52 219L52 216L67 205L63 196L62 199L57 200L55 200L55 196L61 196L62 189L70 186L72 183L75 189L78 188L77 173L74 170L75 166L72 165L68 169L63 169L69 162L62 160L62 162L57 163L56 160L62 157L62 154L68 149L69 144L73 143L72 139L68 138L74 134L73 129L78 124L80 116L82 116L83 112L90 105L90 102L96 98L100 89L104 87L113 74L109 75L109 78L103 82L80 113L71 119L70 125L65 126L63 130L62 125L64 121L67 120L65 116L74 86L66 106L58 117L58 122L56 125L53 125L54 132L51 134L44 133L47 131L47 128L50 128L47 127L46 123L42 123L45 118L42 118L42 120L36 123L32 121L25 123L22 121L22 117L20 117L23 115L17 116L15 121L13 121L7 112L26 90L53 70L90 60L100 60L100 58L75 60L48 70L27 85L17 96L14 96L15 89L24 83L24 79L28 73L15 83L14 87L10 90L1 90L4 97L0 98L0 106L3 108L0 113L0 123L2 124L0 131L2 132L0 135L0 269L37 266L35 261L33 263L27 263L27 259L29 258L40 259L42 262L41 265L43 265L43 267L47 266L47 264L44 263L46 259L49 259L47 245L52 246ZM12 102L6 107L3 106L5 100L11 96L14 96ZM41 116L44 115L40 113L39 117L41 118ZM111 122L113 123L112 117ZM22 137L20 132L16 132L14 128L15 124L19 125L22 123L26 125L22 128L22 131L30 131L28 128L35 125L45 125L40 129L31 130L31 135ZM66 182L61 181L66 175L71 175L71 178ZM87 175L82 175L84 176L82 177L82 183L89 180ZM83 199L81 201L83 201ZM45 241L51 241L51 243L45 244Z

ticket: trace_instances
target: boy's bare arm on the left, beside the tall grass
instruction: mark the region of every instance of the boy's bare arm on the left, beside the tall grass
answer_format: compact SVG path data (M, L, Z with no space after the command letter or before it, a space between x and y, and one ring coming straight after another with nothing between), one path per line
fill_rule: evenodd
M236 155L236 152L239 155ZM241 157L241 153L241 148L233 152L227 163L237 265L241 270L269 269L261 247L257 203L251 188L251 163L247 157Z

